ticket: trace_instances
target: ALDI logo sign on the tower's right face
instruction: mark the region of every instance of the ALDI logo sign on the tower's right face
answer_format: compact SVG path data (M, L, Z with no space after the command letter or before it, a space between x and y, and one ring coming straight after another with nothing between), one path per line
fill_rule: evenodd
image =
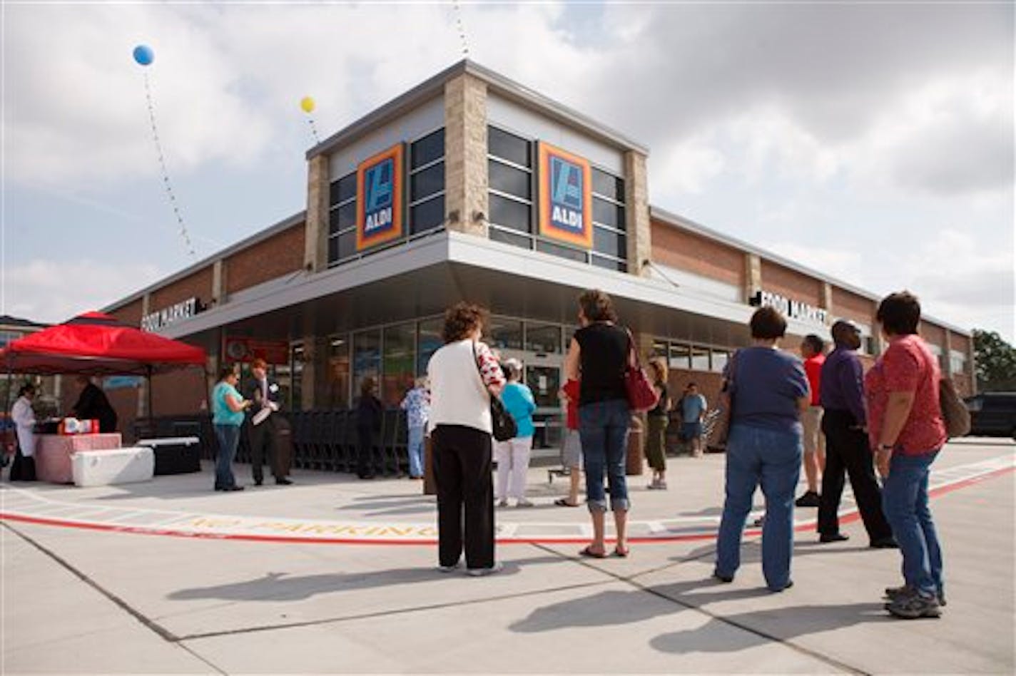
M566 244L592 248L592 171L589 162L538 145L539 233Z

